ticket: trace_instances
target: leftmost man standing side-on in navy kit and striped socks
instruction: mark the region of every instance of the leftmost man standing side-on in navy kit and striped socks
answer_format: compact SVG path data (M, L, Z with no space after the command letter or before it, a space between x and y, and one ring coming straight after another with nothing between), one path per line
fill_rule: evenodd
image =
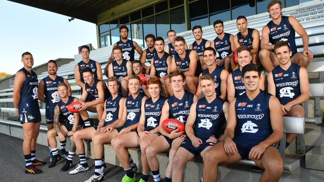
M13 83L13 104L16 115L20 116L23 129L22 151L25 158L25 173L40 174L41 170L35 166L46 164L36 159L36 140L39 134L41 115L38 105L38 79L31 70L34 59L29 52L21 55L21 68L15 76Z

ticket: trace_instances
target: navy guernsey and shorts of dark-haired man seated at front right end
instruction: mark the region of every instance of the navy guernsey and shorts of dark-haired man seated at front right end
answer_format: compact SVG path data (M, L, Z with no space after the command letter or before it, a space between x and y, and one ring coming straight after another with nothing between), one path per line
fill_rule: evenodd
M253 100L244 93L235 101L237 130L233 141L242 159L247 159L251 148L273 133L270 122L270 97L270 93L260 90Z

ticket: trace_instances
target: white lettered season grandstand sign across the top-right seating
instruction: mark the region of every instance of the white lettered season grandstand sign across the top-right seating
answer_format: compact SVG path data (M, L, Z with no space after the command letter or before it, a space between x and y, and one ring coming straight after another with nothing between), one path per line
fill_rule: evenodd
M300 23L324 19L324 3L296 9L290 16L295 16Z

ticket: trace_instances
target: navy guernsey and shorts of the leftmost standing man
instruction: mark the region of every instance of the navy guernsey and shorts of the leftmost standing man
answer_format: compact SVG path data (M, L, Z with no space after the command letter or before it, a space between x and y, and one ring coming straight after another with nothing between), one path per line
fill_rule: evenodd
M40 122L41 116L38 105L38 79L35 72L29 73L25 68L18 72L23 72L25 81L20 91L20 102L18 106L20 123Z

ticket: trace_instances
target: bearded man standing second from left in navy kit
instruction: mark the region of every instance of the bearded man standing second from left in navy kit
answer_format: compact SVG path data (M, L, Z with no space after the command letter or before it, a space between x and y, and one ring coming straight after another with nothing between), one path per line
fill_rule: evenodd
M48 61L46 70L48 76L43 78L38 84L38 100L46 103L45 116L46 116L47 131L49 131L54 127L53 126L54 108L57 102L60 101L60 98L57 93L57 85L59 83L64 82L68 87L67 95L69 96L72 95L72 91L69 82L66 79L56 75L58 68L54 60ZM64 159L67 159L68 153L65 151L65 146L66 146L66 141L62 141L61 155ZM48 148L50 150L49 144L48 144ZM50 156L50 160L52 160L52 155Z

